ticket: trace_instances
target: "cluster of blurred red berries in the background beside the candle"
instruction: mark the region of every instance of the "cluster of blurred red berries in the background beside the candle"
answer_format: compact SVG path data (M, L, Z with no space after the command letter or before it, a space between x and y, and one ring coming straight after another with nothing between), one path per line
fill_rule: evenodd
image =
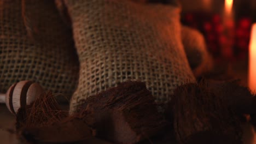
M208 50L216 59L240 61L248 56L252 20L224 19L219 14L184 14L182 22L198 29L206 39Z

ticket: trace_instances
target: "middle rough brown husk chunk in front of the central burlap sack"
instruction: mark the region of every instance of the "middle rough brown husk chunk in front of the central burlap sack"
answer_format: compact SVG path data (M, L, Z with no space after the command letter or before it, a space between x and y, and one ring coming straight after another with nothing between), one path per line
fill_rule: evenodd
M124 82L89 97L80 111L97 137L117 143L137 143L159 134L167 125L142 82Z

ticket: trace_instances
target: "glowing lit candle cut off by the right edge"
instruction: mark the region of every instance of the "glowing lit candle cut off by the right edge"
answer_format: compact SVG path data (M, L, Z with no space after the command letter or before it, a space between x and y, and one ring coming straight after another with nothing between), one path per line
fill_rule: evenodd
M249 88L254 93L256 90L256 23L252 26L249 44Z

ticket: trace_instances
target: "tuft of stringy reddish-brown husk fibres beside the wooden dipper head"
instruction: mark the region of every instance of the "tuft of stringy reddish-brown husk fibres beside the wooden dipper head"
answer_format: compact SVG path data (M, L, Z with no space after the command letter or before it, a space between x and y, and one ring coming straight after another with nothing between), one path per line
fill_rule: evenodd
M60 122L62 118L67 116L67 111L60 109L59 104L54 99L54 95L51 92L45 93L31 105L27 105L25 109L19 109L16 114L16 129L50 125Z

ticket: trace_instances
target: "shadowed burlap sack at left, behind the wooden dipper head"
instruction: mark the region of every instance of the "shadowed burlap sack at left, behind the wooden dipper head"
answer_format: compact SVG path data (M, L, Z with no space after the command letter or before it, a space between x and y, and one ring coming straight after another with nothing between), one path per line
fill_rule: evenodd
M0 91L33 80L64 101L78 83L79 62L54 1L0 1Z

